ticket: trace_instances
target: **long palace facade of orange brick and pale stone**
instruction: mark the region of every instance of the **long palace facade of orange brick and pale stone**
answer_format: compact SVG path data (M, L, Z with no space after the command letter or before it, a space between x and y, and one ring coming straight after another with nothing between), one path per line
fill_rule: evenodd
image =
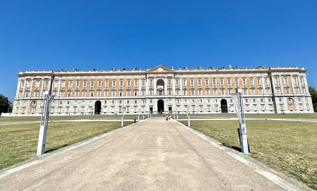
M235 113L231 93L243 91L248 113L313 113L306 72L299 67L167 68L80 71L33 70L17 74L13 116L38 116L44 91L55 96L50 115ZM12 116L11 115L11 116Z

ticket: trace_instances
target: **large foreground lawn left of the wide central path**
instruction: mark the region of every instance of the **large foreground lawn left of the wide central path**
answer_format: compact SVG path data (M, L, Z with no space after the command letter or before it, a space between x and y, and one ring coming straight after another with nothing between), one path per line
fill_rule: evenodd
M121 122L50 122L45 153L120 127ZM0 169L36 157L39 129L37 123L0 126Z

